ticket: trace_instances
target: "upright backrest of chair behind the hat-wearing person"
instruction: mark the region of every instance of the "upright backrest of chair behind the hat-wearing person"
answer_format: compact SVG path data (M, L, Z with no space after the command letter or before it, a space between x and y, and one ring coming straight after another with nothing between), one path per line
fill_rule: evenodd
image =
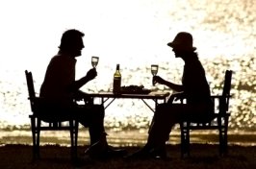
M229 98L231 97L230 96L231 79L232 79L232 70L226 70L224 86L222 91L222 98L220 99L220 102L219 102L219 111L223 113L228 111L228 108L229 108Z

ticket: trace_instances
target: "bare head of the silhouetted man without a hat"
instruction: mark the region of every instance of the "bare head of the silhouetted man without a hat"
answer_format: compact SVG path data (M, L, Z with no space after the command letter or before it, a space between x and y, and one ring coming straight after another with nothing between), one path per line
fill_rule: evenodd
M85 36L84 33L75 29L65 31L59 46L60 50L74 57L81 56L81 51L85 47L83 36Z

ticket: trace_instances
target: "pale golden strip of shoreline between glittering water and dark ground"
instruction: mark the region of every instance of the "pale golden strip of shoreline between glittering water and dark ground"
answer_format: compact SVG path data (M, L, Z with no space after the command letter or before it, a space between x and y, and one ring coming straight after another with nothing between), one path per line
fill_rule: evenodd
M146 131L107 131L108 142L113 146L142 146L147 139ZM191 143L198 144L218 144L218 133L203 133L192 132ZM0 145L5 144L21 144L32 145L31 131L13 131L13 132L0 132ZM68 132L41 132L40 145L59 144L62 146L70 145L70 137ZM87 130L80 130L78 133L78 145L89 145L90 135ZM180 133L170 133L169 145L180 144ZM229 145L240 146L256 146L256 133L228 133Z

